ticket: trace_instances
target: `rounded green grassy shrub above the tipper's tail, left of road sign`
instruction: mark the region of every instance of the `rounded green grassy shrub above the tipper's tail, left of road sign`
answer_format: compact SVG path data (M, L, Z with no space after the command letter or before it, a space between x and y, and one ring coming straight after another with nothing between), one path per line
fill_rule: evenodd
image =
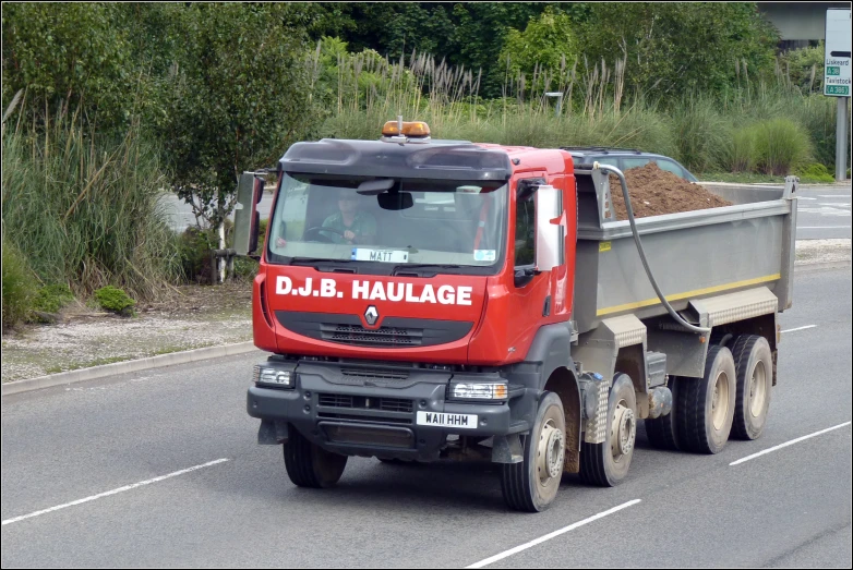
M756 159L765 174L785 175L810 156L804 129L789 119L771 119L756 125Z

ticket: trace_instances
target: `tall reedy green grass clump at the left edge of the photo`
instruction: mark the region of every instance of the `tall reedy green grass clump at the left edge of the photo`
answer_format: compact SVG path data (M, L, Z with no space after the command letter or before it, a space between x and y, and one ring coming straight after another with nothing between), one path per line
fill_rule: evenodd
M2 145L3 241L44 283L81 294L115 284L152 299L179 276L157 199L165 180L137 123L111 140L76 113L38 126L10 117Z

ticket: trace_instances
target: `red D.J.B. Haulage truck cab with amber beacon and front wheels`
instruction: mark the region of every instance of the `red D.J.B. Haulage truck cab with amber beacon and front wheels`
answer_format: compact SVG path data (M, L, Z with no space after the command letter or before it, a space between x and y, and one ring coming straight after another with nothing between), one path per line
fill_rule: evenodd
M333 485L349 456L484 457L510 506L541 510L580 435L572 157L424 131L298 143L278 162L253 294L273 355L248 411L297 485Z

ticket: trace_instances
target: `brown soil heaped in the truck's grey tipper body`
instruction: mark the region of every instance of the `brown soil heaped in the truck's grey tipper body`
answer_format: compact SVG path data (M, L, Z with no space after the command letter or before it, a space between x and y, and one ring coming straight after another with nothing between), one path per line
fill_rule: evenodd
M628 182L630 206L634 208L635 218L732 205L731 202L711 194L699 184L687 182L672 172L661 170L654 162L626 170L625 180ZM622 184L615 174L610 175L610 193L613 197L616 219L628 219L625 199L622 197Z

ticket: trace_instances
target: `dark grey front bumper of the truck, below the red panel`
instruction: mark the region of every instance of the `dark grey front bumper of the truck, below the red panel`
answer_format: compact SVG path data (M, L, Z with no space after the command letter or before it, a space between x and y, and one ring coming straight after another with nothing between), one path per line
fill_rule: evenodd
M296 429L310 441L338 453L421 461L438 459L447 436L504 436L529 430L522 402L532 395L510 387L509 401L468 403L448 401L453 373L408 368L405 378L370 376L365 367L338 363L302 363L292 389L252 386L247 395L249 415ZM497 373L465 375L486 380ZM458 374L455 379L459 379ZM474 427L418 425L418 412L476 414Z

